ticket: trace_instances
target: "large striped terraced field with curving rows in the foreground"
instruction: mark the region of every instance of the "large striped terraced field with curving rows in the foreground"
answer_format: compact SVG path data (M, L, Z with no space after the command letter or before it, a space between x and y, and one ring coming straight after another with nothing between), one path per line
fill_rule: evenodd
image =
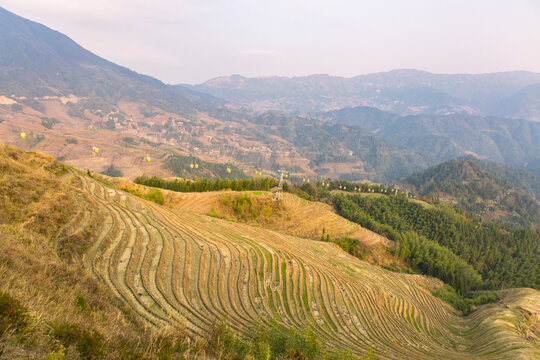
M85 263L150 324L181 321L204 336L224 316L239 331L276 316L342 349L369 345L384 359L540 358L537 291L502 291L499 303L462 318L427 290L435 280L81 181L103 225Z

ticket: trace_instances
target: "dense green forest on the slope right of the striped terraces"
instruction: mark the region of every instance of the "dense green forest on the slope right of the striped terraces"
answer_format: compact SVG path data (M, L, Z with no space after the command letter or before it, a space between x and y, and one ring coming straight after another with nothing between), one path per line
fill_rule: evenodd
M540 288L540 233L482 222L443 204L406 197L333 196L338 213L396 241L397 256L460 294Z

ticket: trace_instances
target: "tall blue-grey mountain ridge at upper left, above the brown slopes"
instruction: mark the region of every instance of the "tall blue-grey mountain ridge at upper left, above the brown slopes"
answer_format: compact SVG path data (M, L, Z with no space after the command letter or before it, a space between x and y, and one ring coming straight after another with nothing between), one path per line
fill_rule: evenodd
M210 99L108 61L65 34L3 8L0 92L18 97L75 95L106 103L145 100L187 116L193 116L198 99Z

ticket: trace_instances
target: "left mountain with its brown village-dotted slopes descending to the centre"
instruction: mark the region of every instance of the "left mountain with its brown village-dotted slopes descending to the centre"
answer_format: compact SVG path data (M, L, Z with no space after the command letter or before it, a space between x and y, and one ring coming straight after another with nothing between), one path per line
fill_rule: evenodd
M59 97L71 95L78 99L48 112L51 101L58 103ZM37 135L26 142L28 146L96 171L114 164L132 173L132 164L141 158L134 155L134 148L143 153L156 151L153 158L158 162L181 150L212 154L220 162L234 160L252 170L275 172L287 167L304 176L373 181L403 177L429 165L422 155L358 126L259 114L212 95L166 85L1 8L0 96L7 103L0 104L0 113L8 119L0 125L5 127L0 129L4 141L15 144L15 134L23 127L31 128ZM42 118L53 114L53 125L36 125L49 124ZM66 144L66 132L81 136L80 144L73 139ZM50 140L53 135L58 135L57 140ZM119 141L120 136L125 141ZM99 158L79 149L88 147L88 142L100 143ZM165 144L172 148L159 148ZM92 157L84 157L88 154Z

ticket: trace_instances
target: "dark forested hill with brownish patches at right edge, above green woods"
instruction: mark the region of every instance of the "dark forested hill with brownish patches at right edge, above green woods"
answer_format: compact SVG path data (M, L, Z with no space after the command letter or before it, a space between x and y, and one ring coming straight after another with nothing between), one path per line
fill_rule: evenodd
M411 175L402 183L486 220L540 228L538 201L472 160L454 159Z

